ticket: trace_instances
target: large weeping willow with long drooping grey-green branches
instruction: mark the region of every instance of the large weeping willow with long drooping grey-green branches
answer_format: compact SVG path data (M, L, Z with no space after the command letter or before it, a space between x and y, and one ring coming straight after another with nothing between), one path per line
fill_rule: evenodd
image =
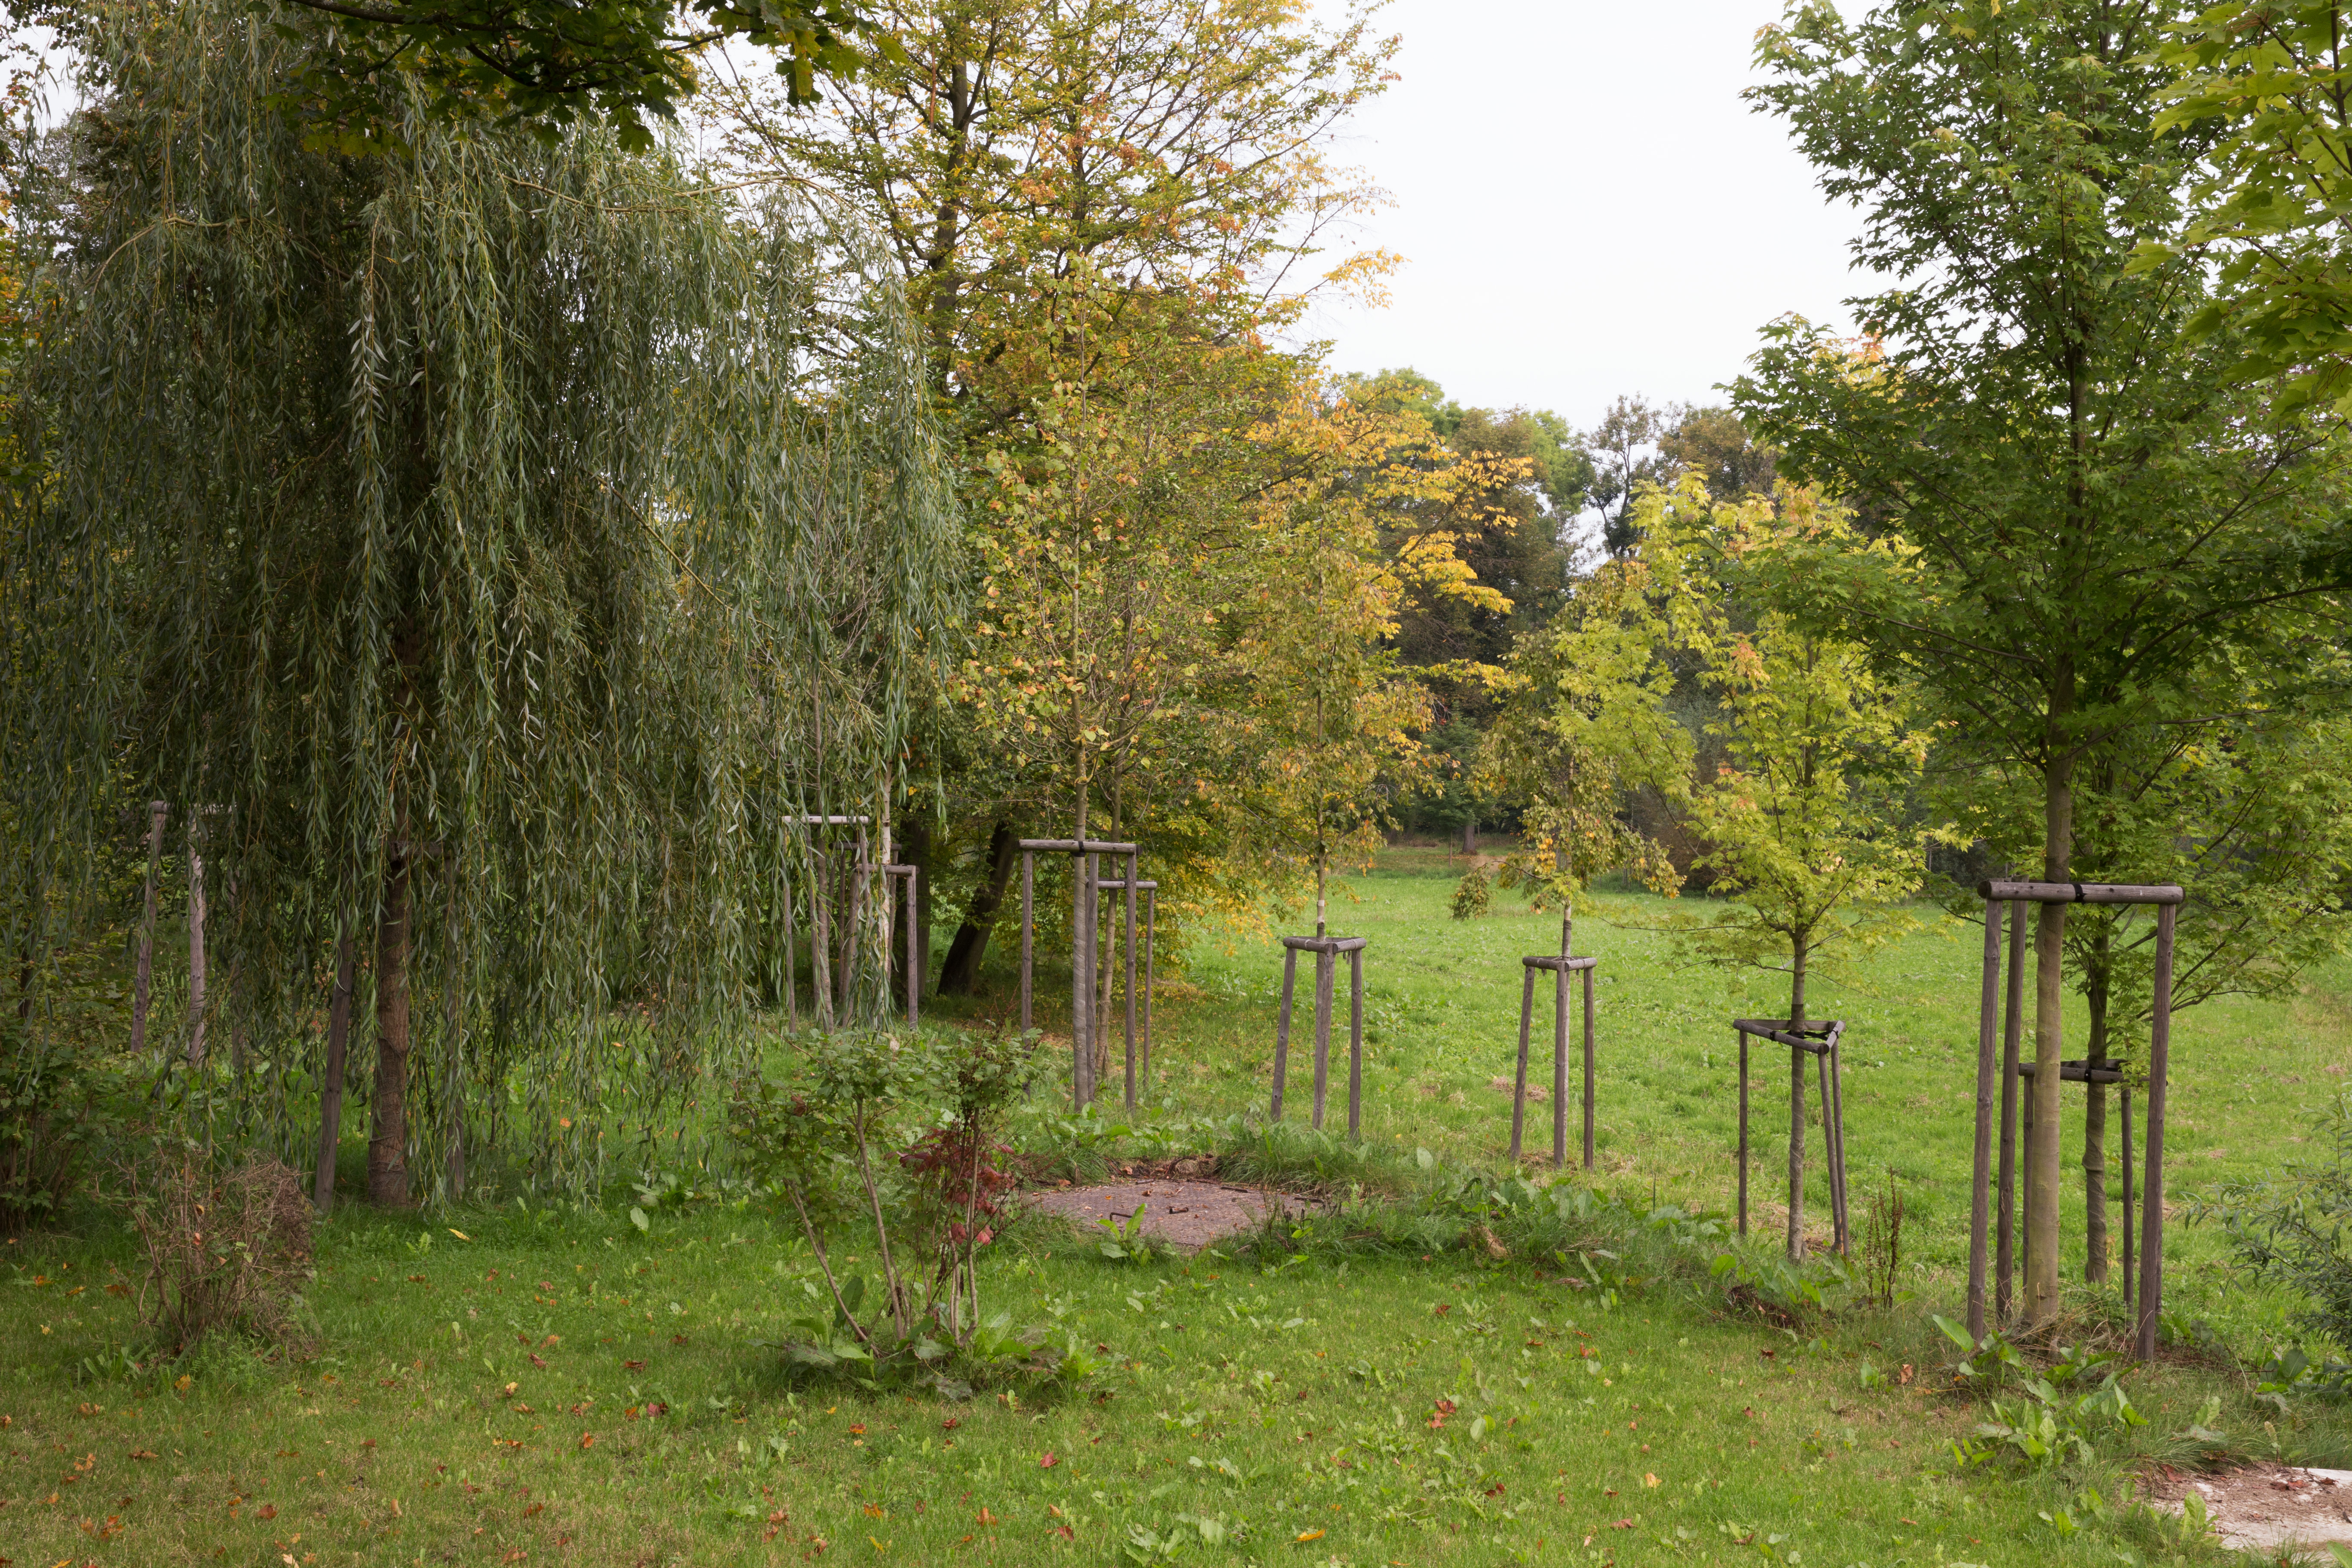
M242 1135L310 1161L350 1013L372 1199L593 1185L774 997L802 820L887 820L955 538L920 346L854 235L666 153L318 155L245 9L92 42L7 630L87 677L12 686L9 830L172 802L179 1081Z

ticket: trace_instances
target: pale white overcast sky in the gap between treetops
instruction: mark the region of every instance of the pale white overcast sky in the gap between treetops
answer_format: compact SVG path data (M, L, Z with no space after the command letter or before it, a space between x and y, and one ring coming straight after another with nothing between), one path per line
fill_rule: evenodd
M1329 5L1319 7L1327 14ZM1456 402L1585 428L1618 393L1719 402L1757 329L1877 292L1778 120L1740 89L1778 0L1395 0L1404 80L1338 148L1390 207L1385 310L1308 324L1331 364L1411 364Z

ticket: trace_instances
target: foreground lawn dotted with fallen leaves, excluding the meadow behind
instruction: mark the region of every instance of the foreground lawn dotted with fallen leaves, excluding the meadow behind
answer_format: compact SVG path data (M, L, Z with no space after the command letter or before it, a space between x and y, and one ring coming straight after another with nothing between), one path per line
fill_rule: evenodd
M1082 1342L1101 1371L969 1401L818 1378L762 1345L814 1262L753 1206L642 1229L595 1211L339 1215L310 1291L325 1354L308 1361L212 1342L148 1363L115 1293L127 1246L19 1246L0 1316L0 1556L2211 1556L2129 1507L2133 1448L2105 1427L2089 1465L1987 1453L1985 1406L1955 1396L1952 1347L1917 1314L1832 1319L1795 1300L1797 1326L1776 1324L1710 1279L1722 1244L1703 1220L1505 1197L1541 1199L1543 1225L1585 1246L1423 1260L1263 1234L1247 1255L1115 1262L1016 1232L983 1265L983 1309ZM1489 1222L1534 1241L1508 1213ZM856 1265L854 1244L842 1258ZM2154 1441L2199 1427L2232 1436L2213 1453L2258 1450L2265 1420L2267 1441L2305 1450L2340 1434L2336 1406L2277 1410L2194 1366L2129 1389L2145 1418L2129 1432Z

